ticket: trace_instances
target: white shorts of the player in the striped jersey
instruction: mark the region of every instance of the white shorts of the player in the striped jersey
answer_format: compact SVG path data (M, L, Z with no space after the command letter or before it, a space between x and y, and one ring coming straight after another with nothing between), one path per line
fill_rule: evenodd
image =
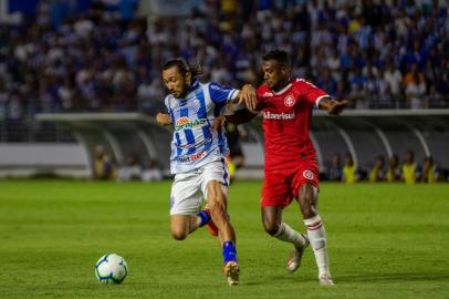
M170 195L170 215L197 214L203 200L207 202L207 184L218 181L228 193L229 172L223 161L211 162L194 172L175 175Z

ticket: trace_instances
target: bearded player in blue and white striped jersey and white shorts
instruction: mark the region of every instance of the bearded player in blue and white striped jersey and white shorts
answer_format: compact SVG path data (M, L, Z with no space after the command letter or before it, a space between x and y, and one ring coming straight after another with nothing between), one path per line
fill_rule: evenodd
M163 66L168 114L156 121L174 127L170 171L175 174L170 195L170 225L175 239L182 240L197 228L210 224L218 229L230 286L239 282L236 233L227 213L229 172L224 157L229 148L221 126L215 121L229 103L254 101L255 90L244 85L241 91L197 80L200 69L182 59ZM207 209L201 208L207 200Z

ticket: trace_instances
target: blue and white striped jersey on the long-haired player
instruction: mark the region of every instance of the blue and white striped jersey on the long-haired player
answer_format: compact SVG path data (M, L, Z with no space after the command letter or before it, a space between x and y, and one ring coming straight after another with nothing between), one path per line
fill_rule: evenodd
M212 132L211 124L237 94L236 89L217 83L195 82L184 99L167 95L165 105L174 125L171 174L197 169L229 154L224 130Z

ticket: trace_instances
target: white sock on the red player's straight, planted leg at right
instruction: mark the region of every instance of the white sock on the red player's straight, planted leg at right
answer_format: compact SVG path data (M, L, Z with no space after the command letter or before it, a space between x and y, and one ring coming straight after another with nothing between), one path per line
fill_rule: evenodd
M328 270L328 258L326 248L326 230L321 221L320 215L310 219L304 219L307 227L307 237L313 252L315 254L316 266L319 267L319 276L323 274L331 275Z

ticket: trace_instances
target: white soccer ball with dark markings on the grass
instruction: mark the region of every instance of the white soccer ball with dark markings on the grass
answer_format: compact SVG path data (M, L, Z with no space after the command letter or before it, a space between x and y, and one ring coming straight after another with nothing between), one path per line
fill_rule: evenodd
M95 276L102 283L121 283L128 275L128 265L116 254L104 255L95 264Z

